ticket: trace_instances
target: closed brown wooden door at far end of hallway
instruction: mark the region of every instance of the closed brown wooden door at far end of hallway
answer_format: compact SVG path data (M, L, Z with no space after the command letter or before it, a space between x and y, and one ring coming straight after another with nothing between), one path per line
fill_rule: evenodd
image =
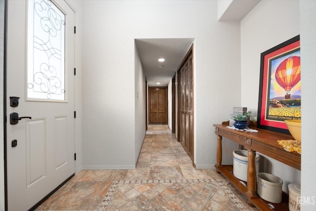
M167 87L149 87L150 124L168 124Z

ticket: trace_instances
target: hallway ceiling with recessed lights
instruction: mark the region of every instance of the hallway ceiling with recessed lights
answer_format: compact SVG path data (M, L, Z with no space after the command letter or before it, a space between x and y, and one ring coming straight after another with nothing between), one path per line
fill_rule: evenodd
M136 48L148 85L167 86L193 41L194 38L136 39ZM159 62L159 58L165 61Z

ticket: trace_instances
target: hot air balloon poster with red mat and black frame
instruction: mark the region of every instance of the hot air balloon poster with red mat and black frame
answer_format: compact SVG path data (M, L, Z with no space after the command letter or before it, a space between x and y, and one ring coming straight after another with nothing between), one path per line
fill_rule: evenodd
M261 53L257 127L290 134L284 120L301 119L300 36Z

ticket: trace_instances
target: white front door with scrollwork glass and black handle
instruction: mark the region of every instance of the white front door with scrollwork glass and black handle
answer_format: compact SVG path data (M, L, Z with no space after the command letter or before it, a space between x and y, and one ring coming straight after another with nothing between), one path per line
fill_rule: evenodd
M7 205L26 211L75 172L75 12L8 0L7 21Z

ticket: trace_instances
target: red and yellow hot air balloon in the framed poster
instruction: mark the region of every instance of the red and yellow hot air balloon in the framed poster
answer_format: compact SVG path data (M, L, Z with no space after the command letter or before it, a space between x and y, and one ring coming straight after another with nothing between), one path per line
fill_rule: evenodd
M285 90L285 99L291 98L291 89L301 81L301 57L290 56L276 68L276 82Z

